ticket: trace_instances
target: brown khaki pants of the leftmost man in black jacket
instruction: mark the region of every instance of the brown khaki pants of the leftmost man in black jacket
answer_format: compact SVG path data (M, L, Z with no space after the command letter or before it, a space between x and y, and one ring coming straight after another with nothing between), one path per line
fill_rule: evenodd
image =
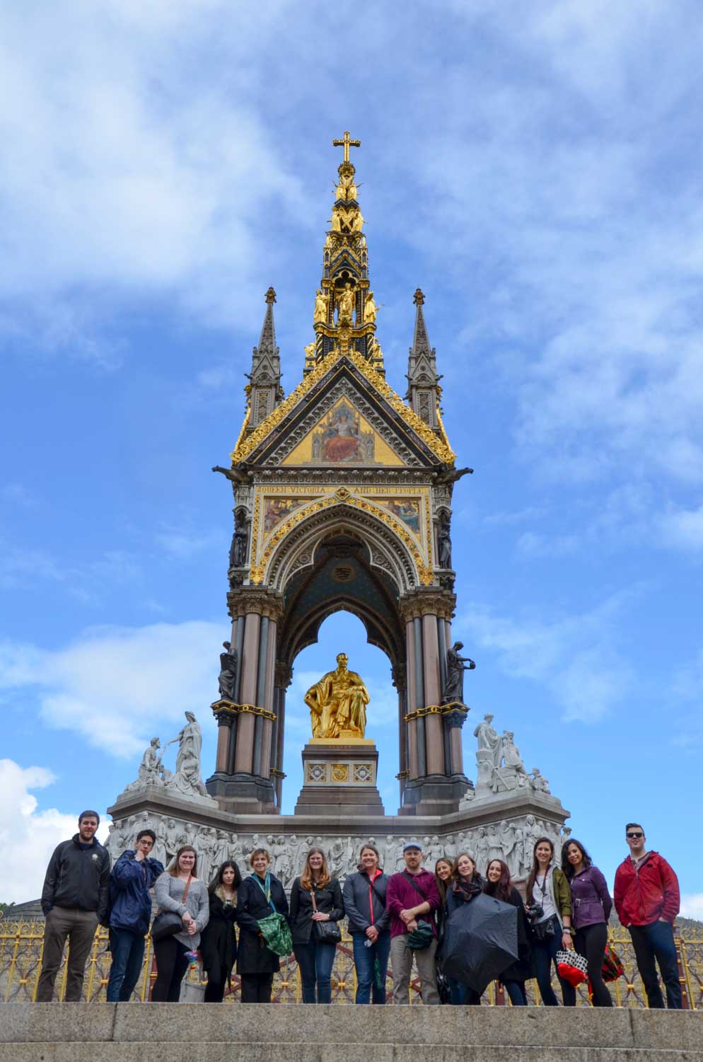
M78 1003L83 992L85 964L90 955L97 928L98 915L95 911L80 911L74 907L51 908L44 926L44 956L36 989L37 1003L51 1003L67 937L65 999L67 1003Z

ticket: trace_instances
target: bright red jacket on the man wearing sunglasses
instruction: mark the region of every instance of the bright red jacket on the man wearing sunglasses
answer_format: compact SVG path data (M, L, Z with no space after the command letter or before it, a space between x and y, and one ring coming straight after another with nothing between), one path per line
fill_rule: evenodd
M639 867L627 856L615 872L613 898L623 926L672 923L681 906L679 878L658 852L648 852Z

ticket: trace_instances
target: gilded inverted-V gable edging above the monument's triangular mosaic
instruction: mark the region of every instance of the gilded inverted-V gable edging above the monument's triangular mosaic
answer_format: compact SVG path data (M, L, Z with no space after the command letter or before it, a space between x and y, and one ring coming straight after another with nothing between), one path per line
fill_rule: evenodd
M359 389L359 393L363 392L366 401L384 418L391 434L397 435L399 449L410 448L416 455L413 464L453 463L456 455L444 430L441 434L432 431L393 391L383 376L356 350L346 354L333 350L315 365L254 431L245 434L242 430L230 455L233 464L265 463L271 460L274 449L277 456L273 460L278 463L281 445L290 438L290 449L294 447L299 441L299 432L298 435L295 433L296 427L299 428L304 419L306 423L310 422L318 404L322 402L329 389L342 377L348 380L352 392L355 388ZM320 416L322 415L321 409ZM388 441L393 448L392 438L388 438Z

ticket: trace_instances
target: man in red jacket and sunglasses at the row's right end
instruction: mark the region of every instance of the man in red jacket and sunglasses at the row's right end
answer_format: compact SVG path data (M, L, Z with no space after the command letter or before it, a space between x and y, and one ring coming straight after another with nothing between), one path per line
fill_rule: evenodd
M650 1007L664 1007L654 960L667 990L667 1007L681 1010L679 958L672 924L679 913L679 879L657 852L647 852L645 830L637 822L624 827L630 855L615 872L615 909L630 930L637 969Z

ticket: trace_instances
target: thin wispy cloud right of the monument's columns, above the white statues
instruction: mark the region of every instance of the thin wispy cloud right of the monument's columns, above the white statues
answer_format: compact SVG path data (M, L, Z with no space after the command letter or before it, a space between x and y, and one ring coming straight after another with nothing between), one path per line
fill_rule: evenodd
M616 648L620 613L636 592L613 595L578 615L545 621L536 615L505 618L469 610L459 626L493 650L499 666L549 689L566 721L595 722L630 690L630 663Z

